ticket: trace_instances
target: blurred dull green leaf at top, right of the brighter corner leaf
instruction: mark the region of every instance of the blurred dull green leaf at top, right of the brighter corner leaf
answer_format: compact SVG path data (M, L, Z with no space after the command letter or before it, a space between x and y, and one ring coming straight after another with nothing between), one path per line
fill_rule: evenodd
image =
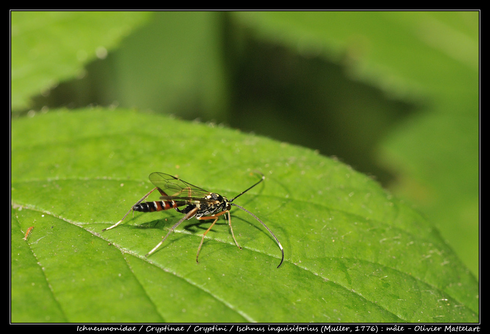
M224 119L230 82L222 16L208 11L153 13L100 70L102 99L182 118Z

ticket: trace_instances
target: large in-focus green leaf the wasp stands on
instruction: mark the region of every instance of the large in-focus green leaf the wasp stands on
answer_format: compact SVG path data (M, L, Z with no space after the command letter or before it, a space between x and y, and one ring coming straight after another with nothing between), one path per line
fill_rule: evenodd
M220 219L118 221L161 171L233 197ZM437 231L309 149L125 110L12 121L12 322L478 322L478 285ZM157 195L151 199L158 198ZM27 241L22 240L33 226Z

